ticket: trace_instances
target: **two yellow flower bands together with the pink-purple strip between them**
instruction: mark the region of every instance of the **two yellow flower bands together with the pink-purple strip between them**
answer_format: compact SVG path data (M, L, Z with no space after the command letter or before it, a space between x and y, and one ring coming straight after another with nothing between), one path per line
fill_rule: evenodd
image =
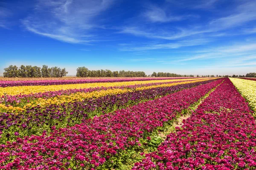
M49 86L17 86L0 88L0 93L7 93L8 106L2 103L0 108L4 110L22 111L37 105L45 106L74 101L83 101L92 97L105 96L107 94L122 94L128 91L139 91L150 88L169 87L178 84L202 82L208 79L163 79L151 81L88 83L73 85L49 85ZM2 96L4 97L4 96Z

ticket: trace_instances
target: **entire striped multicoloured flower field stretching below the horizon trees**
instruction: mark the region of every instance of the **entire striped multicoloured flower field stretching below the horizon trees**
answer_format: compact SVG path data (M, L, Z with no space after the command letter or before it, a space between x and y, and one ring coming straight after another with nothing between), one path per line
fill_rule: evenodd
M254 85L237 78L0 79L0 95L7 93L0 169L254 170Z

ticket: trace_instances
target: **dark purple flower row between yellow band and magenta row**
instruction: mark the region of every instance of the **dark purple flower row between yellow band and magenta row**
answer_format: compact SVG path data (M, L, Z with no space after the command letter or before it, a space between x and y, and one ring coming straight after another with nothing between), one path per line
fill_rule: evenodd
M0 131L2 136L0 142L16 140L17 137L40 135L44 130L51 132L51 127L56 128L73 126L93 118L95 115L110 113L116 109L136 105L139 102L153 100L161 96L172 94L186 88L192 88L201 84L214 81L194 82L179 84L169 87L158 87L140 91L129 91L127 93L106 95L99 98L89 98L82 102L62 103L61 105L49 105L44 108L36 106L28 108L20 113L2 113L0 116ZM19 136L15 136L15 132Z

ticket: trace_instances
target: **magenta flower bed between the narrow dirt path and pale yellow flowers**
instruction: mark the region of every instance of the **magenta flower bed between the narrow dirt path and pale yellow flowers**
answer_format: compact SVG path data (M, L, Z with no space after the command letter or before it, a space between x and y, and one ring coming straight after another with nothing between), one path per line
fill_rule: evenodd
M133 170L254 170L256 123L251 113L226 79Z

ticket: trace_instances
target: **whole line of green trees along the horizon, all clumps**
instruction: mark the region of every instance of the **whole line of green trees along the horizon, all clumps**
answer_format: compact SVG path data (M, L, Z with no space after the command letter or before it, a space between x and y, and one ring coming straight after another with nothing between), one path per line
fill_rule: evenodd
M66 68L52 67L43 65L42 68L32 65L10 65L4 68L4 77L64 77L68 74ZM144 71L111 71L111 70L89 70L86 67L76 69L76 77L194 77L194 75L181 75L174 73L153 72L146 75ZM196 77L200 77L197 75ZM215 75L202 75L201 77L215 77ZM256 73L247 73L244 75L216 75L216 77L256 77Z

